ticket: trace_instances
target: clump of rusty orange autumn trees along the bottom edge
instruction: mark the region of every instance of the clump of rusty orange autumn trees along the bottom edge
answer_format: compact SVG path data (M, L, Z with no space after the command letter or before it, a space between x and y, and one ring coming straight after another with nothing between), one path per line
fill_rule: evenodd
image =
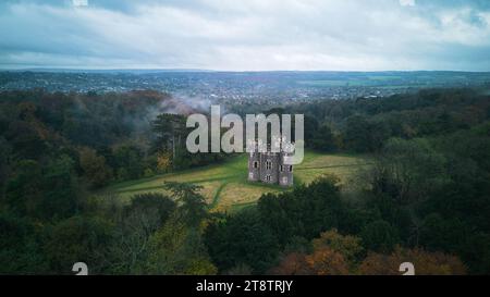
M392 253L369 251L366 256L362 239L341 235L336 230L324 232L311 240L310 253L290 252L270 270L279 275L402 275L400 265L411 262L419 275L462 275L466 267L455 256L424 249L396 247Z

